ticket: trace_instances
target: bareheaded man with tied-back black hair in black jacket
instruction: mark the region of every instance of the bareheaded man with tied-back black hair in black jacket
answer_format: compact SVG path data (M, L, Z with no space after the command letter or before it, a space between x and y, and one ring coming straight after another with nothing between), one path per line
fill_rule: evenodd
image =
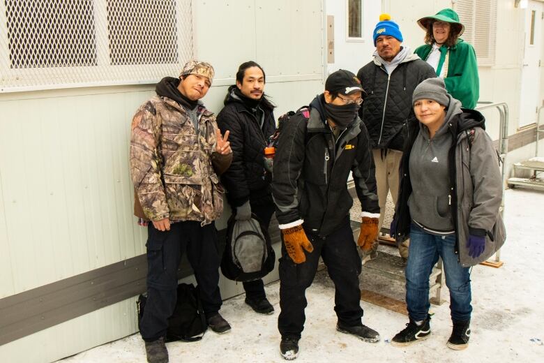
M238 220L255 214L268 226L274 204L270 183L271 170L264 168L264 148L275 131L274 106L264 95L266 75L255 61L241 64L236 84L229 87L225 108L217 117L223 133L230 131L233 159L222 175L227 200ZM262 279L243 282L245 303L257 313L271 314L273 306L266 299Z

